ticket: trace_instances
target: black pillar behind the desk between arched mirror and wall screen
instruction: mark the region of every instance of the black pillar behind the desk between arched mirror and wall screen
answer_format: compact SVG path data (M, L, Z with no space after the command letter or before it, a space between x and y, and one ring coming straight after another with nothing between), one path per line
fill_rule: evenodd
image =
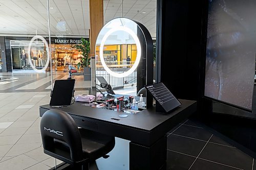
M200 99L202 1L158 1L160 81L179 99Z

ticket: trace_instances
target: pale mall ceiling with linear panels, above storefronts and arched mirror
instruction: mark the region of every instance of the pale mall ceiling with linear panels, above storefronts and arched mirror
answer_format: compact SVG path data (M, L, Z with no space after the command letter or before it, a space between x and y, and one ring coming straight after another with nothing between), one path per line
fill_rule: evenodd
M46 0L1 0L0 34L48 35ZM104 0L104 23L123 17L156 36L156 0ZM51 35L89 36L89 0L49 0Z

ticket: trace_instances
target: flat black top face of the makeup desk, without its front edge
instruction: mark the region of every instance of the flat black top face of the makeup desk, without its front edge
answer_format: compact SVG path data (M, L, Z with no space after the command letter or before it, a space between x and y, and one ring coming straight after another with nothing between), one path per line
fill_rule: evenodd
M123 112L118 112L114 110L94 108L90 106L83 106L80 102L76 102L69 107L58 108L59 110L66 111L74 116L93 118L95 120L103 120L105 122L112 122L115 124L120 124L122 126L133 127L145 131L151 131L159 124L165 122L167 119L174 117L176 114L180 113L188 106L193 107L195 101L180 100L182 105L176 110L170 112L169 114L163 114L156 112L155 107L151 107L140 111L136 114L127 114L128 117L119 117L118 115L124 114ZM50 107L49 105L40 106L45 109L56 109L55 107ZM115 120L111 118L116 118L120 120Z

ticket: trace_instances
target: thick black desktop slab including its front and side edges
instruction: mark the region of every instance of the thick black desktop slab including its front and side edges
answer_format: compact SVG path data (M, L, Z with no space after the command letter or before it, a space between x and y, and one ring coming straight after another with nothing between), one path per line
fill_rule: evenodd
M152 107L136 114L127 114L128 117L119 117L118 115L123 114L122 112L82 106L83 103L80 102L63 108L44 105L40 106L39 110L40 116L49 109L63 110L75 119L79 127L151 145L196 112L196 101L180 100L180 102L182 105L168 114L156 112L155 107Z

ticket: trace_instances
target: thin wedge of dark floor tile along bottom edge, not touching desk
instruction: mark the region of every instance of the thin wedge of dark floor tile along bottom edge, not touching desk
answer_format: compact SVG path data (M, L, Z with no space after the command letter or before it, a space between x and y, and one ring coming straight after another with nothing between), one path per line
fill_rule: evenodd
M236 168L232 168L229 166L221 165L218 163L202 160L202 159L197 159L196 162L193 164L193 166L190 168L191 170L196 169L196 170L234 170ZM237 170L237 169L236 169Z

